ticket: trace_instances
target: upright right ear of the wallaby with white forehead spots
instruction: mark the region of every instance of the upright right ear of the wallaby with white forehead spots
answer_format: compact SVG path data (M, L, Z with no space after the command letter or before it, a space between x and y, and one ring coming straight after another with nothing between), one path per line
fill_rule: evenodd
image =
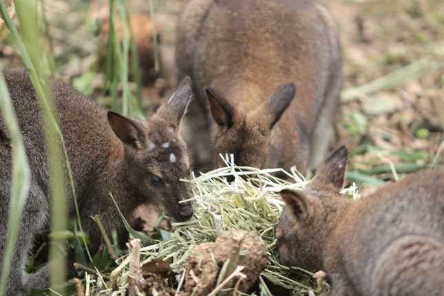
M182 116L186 113L193 92L191 90L191 78L186 76L180 81L176 92L169 98L167 104L159 108L158 115L165 118L173 126L180 125Z

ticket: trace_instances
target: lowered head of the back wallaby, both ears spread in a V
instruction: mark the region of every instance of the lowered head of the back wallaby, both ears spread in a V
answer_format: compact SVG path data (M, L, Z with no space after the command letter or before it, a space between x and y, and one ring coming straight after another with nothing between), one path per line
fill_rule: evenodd
M218 124L215 136L218 167L224 166L219 154L233 154L236 165L268 167L273 127L295 94L295 83L288 83L278 87L260 105L251 110L240 110L215 90L207 89L211 114Z

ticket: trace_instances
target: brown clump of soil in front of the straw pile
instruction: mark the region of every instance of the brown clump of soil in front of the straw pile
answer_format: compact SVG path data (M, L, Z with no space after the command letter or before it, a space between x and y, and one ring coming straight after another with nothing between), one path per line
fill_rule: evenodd
M184 291L180 296L208 295L215 288L222 266L229 259L224 279L237 266L244 266L246 276L239 290L247 292L256 282L266 259L266 247L261 238L246 231L223 231L215 242L207 242L195 247L187 264ZM238 277L231 279L225 286L233 288ZM222 281L221 281L222 282Z

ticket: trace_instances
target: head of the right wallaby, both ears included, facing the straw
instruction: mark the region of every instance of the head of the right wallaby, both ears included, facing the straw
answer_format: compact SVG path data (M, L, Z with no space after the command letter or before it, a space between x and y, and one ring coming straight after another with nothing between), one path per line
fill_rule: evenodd
M276 248L282 264L322 268L322 244L337 219L337 208L347 202L339 195L348 150L337 149L317 170L304 191L281 191L287 204L276 228Z

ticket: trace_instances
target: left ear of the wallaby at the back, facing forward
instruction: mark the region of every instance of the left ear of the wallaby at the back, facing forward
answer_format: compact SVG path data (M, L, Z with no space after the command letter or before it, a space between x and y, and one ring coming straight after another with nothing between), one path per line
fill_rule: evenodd
M206 92L215 122L220 127L231 127L233 125L233 107L213 89L206 89Z

